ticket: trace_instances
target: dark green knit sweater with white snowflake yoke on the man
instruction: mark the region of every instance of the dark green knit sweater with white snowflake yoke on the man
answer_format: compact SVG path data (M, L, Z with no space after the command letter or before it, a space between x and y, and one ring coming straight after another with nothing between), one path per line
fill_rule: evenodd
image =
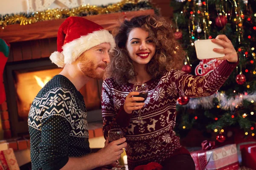
M69 157L90 153L84 98L69 79L53 77L32 102L29 135L32 170L59 170Z

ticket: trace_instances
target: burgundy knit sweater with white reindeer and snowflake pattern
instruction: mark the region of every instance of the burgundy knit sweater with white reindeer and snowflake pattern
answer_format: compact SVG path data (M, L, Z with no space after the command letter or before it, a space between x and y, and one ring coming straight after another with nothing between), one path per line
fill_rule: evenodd
M128 142L126 153L129 170L153 161L161 164L177 153L189 153L180 146L180 139L173 130L177 98L214 94L237 64L225 60L205 77L171 70L159 79L146 82L148 97L141 109L145 124L132 122L138 118L138 111L128 114L123 109L125 97L132 91L133 84L118 85L112 78L106 79L102 86L104 135L108 136L110 129L122 129Z

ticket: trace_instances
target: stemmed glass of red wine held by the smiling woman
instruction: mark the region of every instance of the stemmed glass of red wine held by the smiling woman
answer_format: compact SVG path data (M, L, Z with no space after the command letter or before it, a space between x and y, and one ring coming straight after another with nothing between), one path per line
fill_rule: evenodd
M134 97L143 97L143 101L136 101L139 103L144 103L148 96L148 85L146 83L136 83L134 84L132 91L140 92L139 95L136 95ZM145 123L143 119L141 119L141 111L139 109L139 117L137 120L134 120L133 123Z

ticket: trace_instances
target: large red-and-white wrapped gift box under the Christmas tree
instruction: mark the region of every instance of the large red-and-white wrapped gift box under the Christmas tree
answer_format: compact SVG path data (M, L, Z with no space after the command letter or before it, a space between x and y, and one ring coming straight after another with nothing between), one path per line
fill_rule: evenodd
M238 170L236 144L192 152L196 170Z

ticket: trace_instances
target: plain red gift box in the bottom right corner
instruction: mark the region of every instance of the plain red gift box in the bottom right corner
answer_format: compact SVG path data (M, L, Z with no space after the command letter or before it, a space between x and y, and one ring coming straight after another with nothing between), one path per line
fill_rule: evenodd
M240 145L242 164L256 169L256 143Z

